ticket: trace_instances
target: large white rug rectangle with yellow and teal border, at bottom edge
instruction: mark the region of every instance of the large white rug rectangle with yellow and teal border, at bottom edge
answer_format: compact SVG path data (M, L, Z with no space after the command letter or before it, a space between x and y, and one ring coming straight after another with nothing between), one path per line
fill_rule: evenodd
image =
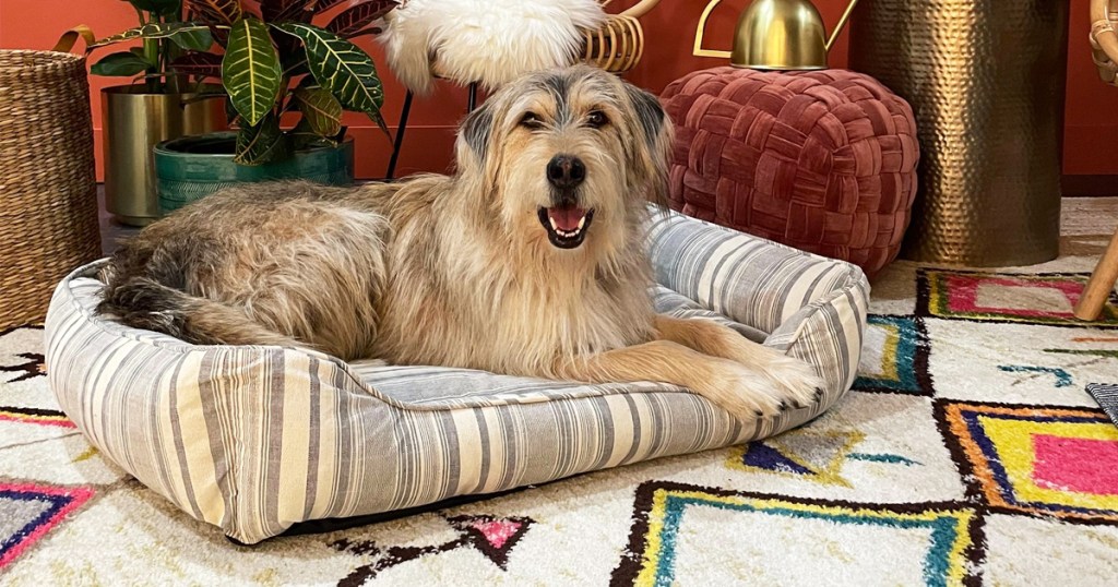
M704 539L699 538L704 536L702 522L692 521L701 519L704 512L721 518L726 526L755 526L758 530L768 530L756 537L731 534L739 540L739 549L766 548L768 543L769 556L761 557L755 578L790 578L780 557L790 540L774 539L780 534L789 539L796 537L800 524L805 529L822 526L833 543L843 545L840 547L842 553L813 557L815 572L822 570L819 567L826 566L832 556L836 559L853 553L872 556L874 551L892 550L898 545L916 555L910 559L881 560L878 566L863 566L860 580L865 584L960 585L968 583L979 552L976 548L977 512L950 503L851 503L667 482L645 483L637 489L635 503L629 548L614 572L616 584L691 585L701 579L681 576L690 569L676 559L688 549L695 549L695 545L688 545L689 541Z

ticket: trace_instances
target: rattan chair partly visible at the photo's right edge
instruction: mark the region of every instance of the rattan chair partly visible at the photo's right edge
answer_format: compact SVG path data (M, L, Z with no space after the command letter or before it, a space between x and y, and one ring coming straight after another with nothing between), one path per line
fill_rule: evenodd
M1091 49L1099 77L1118 86L1118 0L1091 0ZM1118 229L1076 304L1080 320L1098 320L1118 282Z

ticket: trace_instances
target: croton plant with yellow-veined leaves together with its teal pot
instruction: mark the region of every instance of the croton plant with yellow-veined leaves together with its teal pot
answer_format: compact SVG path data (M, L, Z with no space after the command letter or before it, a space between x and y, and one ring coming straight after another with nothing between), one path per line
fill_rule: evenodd
M227 116L236 132L183 136L155 146L161 212L237 182L352 182L353 145L342 113L363 113L388 131L376 66L350 39L379 32L378 21L398 2L343 3L183 0L186 21L146 25L95 44L138 37L170 40L180 48L189 44L167 67L196 79L219 79L218 93L228 98ZM211 45L219 50L210 51Z

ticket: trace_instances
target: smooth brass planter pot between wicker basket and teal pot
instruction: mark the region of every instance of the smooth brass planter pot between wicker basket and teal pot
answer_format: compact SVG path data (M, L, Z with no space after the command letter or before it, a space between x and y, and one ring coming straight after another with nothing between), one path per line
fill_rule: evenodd
M155 144L226 127L224 98L197 93L152 94L142 85L101 93L104 124L105 208L120 223L145 226L159 218Z

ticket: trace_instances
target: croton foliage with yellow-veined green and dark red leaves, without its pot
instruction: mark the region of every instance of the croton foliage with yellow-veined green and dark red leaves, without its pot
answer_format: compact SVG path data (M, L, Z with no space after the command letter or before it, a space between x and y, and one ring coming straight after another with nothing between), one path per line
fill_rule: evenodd
M92 72L143 77L160 92L220 79L230 123L239 127L238 163L337 144L345 133L343 111L368 115L387 133L377 68L350 39L380 32L377 23L398 0L124 1L140 26L94 39L89 50L135 39L143 46L110 54Z

